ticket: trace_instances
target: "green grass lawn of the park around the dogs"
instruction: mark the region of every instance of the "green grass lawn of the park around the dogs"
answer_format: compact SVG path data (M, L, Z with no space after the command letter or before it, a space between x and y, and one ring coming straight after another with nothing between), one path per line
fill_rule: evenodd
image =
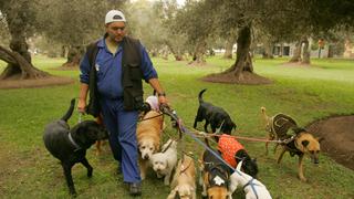
M354 113L354 61L312 60L313 66L294 67L282 65L285 59L254 62L256 73L274 81L270 85L231 85L206 83L204 75L220 72L235 61L220 57L208 59L207 66L188 66L186 62L153 60L159 73L169 102L191 128L198 107L197 95L208 88L204 97L222 106L238 124L241 136L264 137L261 128L260 107L269 114L279 112L292 115L300 125L333 114ZM52 74L77 80L79 71L52 70L64 62L62 59L34 57L34 64ZM0 63L0 71L3 69ZM152 88L145 85L145 92ZM79 82L41 88L0 90L0 196L1 198L67 198L67 188L62 168L44 148L43 127L59 118L66 111L69 102L79 94ZM88 117L87 117L88 118ZM70 123L74 125L77 115ZM201 129L201 124L198 126ZM175 132L168 128L168 135ZM167 136L164 136L167 139ZM186 137L186 150L199 156L201 147ZM306 184L296 178L295 158L284 156L282 164L275 156L264 156L263 143L242 142L249 154L258 158L259 177L267 185L273 198L353 198L354 172L321 156L321 164L314 167L305 159ZM73 168L79 198L129 198L115 175L116 165L107 145L105 151L95 156L95 149L87 157L94 167L94 177L87 179L83 166ZM142 198L166 198L169 188L150 174L143 184ZM240 191L237 196L241 196Z

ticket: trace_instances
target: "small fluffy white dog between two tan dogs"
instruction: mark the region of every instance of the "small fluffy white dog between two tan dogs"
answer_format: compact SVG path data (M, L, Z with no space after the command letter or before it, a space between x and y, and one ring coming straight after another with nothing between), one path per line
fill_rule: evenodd
M160 153L153 154L150 163L157 178L164 177L164 184L168 186L177 164L177 142L168 139Z

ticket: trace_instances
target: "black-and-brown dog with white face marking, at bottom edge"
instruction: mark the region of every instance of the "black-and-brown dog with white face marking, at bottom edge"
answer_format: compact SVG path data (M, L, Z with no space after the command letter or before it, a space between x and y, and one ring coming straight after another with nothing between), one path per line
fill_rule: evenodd
M218 151L215 153L219 154ZM202 197L231 199L228 193L229 168L209 150L205 150L202 154L200 170L202 170L199 181L202 186Z

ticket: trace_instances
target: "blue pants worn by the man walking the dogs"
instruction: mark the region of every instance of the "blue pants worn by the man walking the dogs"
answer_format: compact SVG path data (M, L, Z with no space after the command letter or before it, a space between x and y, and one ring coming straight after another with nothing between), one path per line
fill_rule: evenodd
M101 100L103 123L110 133L113 156L122 164L125 182L139 182L136 124L138 112L123 109L123 100Z

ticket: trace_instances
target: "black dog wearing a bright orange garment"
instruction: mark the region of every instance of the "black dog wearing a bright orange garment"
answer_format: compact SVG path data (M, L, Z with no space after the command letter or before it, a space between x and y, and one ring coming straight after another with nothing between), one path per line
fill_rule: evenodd
M257 160L251 159L244 147L235 137L222 134L218 139L218 150L221 153L222 158L233 168L237 167L238 161L242 160L242 170L257 178Z

